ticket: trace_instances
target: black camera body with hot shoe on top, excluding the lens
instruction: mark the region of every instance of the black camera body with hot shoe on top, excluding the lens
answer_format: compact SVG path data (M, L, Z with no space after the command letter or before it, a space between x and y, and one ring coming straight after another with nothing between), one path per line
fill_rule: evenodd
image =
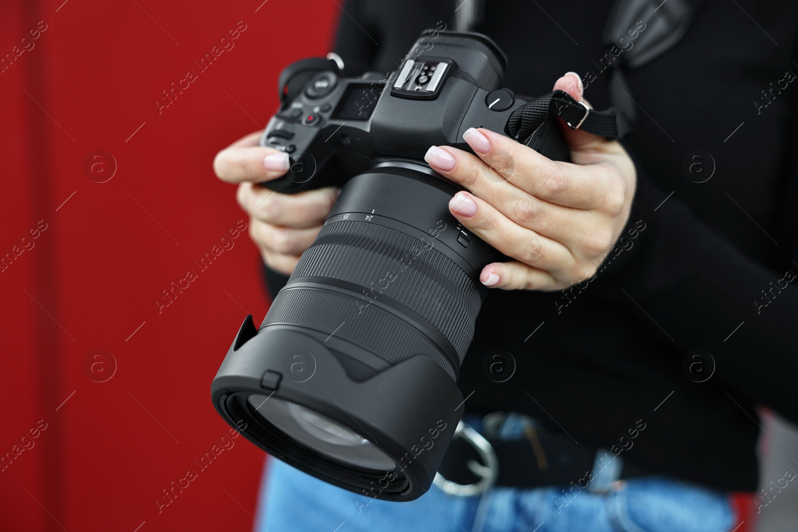
M423 161L430 146L470 152L463 140L468 128L509 136L508 118L527 100L500 89L506 67L489 37L426 30L387 76L319 71L283 101L263 132L262 146L290 157L288 173L263 184L282 193L341 186L381 160ZM553 116L518 140L552 160L568 160Z

